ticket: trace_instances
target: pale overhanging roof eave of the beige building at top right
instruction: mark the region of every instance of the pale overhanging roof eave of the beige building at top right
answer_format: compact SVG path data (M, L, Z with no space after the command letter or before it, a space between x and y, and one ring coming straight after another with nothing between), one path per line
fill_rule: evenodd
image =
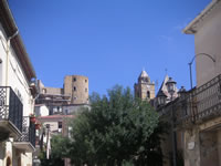
M197 32L199 28L199 23L203 22L204 19L211 14L211 11L215 9L218 3L220 3L221 0L212 0L212 2L203 9L199 15L197 15L183 30L182 32L186 34L193 34Z

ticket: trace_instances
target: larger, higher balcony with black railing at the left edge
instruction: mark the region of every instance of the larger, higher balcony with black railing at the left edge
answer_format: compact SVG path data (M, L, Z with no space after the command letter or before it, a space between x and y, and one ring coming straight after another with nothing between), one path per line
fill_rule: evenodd
M0 142L18 138L22 132L23 105L13 90L0 86Z

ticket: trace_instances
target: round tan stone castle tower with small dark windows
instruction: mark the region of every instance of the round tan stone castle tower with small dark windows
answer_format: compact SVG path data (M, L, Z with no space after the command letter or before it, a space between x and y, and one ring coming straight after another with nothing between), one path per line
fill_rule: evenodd
M82 75L65 76L64 94L71 96L71 104L87 104L88 77Z

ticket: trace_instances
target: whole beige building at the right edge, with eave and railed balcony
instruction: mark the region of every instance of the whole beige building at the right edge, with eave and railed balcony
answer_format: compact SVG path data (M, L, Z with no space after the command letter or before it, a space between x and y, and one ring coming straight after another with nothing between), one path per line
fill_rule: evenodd
M183 30L194 35L197 87L189 93L192 123L185 127L185 165L221 165L221 1L212 2ZM188 124L188 123L183 123Z

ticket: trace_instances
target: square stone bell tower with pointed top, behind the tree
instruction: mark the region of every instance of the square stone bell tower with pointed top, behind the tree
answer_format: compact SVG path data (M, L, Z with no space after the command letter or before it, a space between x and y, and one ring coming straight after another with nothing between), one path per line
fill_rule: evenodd
M135 96L141 100L150 101L155 97L155 83L150 82L150 79L146 71L141 71L138 83L134 85Z

